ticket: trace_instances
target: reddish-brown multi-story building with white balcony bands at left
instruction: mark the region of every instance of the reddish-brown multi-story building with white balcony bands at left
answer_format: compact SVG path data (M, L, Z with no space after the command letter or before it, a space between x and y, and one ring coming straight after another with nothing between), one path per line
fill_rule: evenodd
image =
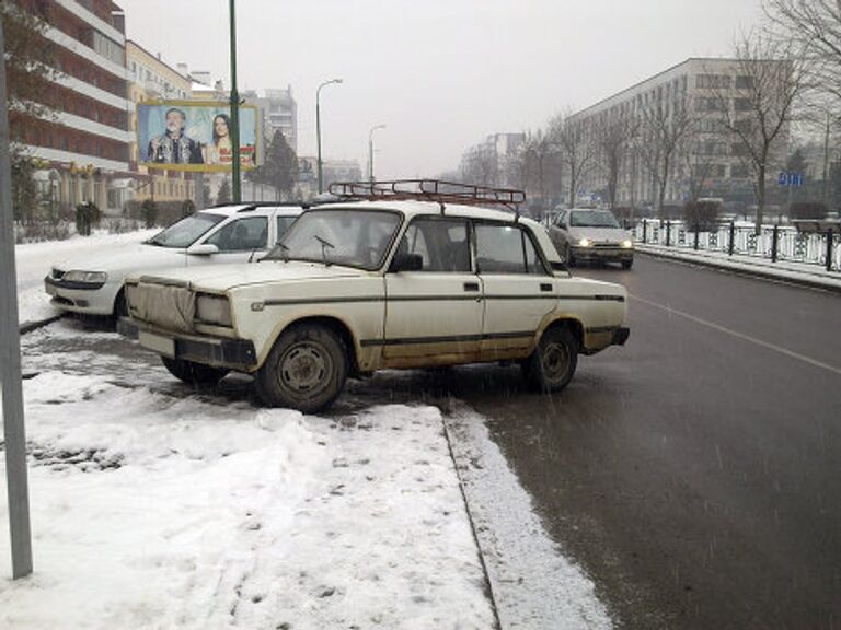
M111 0L18 4L46 22L57 72L43 98L55 115L13 125L12 139L38 160L59 203L116 208L130 177L123 11Z

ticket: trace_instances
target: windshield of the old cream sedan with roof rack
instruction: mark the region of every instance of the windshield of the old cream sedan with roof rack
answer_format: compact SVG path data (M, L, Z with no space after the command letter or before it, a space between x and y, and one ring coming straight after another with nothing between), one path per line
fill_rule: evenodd
M264 260L312 260L378 269L401 217L376 210L310 210Z

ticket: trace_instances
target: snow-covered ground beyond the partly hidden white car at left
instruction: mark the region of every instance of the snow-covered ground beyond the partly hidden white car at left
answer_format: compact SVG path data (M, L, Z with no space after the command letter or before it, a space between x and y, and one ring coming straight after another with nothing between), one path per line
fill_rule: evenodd
M91 236L74 235L67 241L15 245L20 324L42 322L58 314L58 311L49 304L49 295L44 291L44 278L49 273L54 262L83 256L89 252L101 252L103 248L116 250L126 244L139 243L158 231L142 230L126 234L97 231Z

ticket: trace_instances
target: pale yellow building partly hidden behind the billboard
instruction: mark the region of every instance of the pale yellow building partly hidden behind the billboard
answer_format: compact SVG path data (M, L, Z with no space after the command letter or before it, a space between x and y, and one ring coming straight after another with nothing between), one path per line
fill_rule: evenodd
M126 68L128 69L129 129L137 128L137 104L145 101L188 101L192 98L193 84L186 74L186 68L180 65L172 68L163 61L161 55L152 55L130 39L126 42ZM131 170L141 177L134 184L134 198L138 201L154 199L158 201L177 201L193 199L195 196L192 173L178 171L148 170L140 166L140 150L137 138L133 135L129 143Z

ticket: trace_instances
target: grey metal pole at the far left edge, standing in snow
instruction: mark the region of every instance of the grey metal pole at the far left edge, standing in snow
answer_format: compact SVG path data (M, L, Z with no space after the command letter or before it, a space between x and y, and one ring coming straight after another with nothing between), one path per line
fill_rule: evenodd
M14 265L12 168L9 155L9 103L5 91L5 39L0 22L0 397L5 440L5 482L12 541L12 578L32 573L26 430L21 385L21 336Z

